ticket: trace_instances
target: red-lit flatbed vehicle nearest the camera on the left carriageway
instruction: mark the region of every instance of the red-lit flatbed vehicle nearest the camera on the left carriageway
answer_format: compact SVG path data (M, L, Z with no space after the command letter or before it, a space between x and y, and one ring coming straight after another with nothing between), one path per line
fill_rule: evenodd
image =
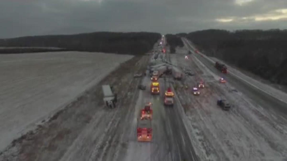
M137 119L137 141L152 141L152 121Z

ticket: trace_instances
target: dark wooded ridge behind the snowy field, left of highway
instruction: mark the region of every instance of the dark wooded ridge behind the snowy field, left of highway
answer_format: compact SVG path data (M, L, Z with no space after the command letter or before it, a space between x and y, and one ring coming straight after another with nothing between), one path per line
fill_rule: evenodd
M58 47L68 51L139 55L152 50L154 43L160 38L161 34L152 32L93 32L0 39L0 46ZM29 49L26 50L29 51ZM17 53L17 51L19 50L14 49L10 53Z

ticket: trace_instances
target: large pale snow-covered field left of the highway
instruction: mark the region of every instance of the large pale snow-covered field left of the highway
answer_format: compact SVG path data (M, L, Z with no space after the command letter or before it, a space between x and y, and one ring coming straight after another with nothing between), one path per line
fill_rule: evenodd
M87 52L0 55L0 151L132 57Z

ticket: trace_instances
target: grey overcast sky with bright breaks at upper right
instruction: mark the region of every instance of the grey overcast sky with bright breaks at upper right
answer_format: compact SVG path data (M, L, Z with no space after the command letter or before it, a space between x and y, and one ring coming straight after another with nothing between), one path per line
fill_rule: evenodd
M0 38L287 28L287 0L0 0Z

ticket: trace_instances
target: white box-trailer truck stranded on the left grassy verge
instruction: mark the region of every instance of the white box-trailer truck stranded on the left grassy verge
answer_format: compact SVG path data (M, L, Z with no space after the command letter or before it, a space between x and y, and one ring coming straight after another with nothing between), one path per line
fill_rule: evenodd
M117 94L113 94L110 85L103 85L102 90L104 93L104 102L106 106L110 108L115 108L115 103L117 102Z

